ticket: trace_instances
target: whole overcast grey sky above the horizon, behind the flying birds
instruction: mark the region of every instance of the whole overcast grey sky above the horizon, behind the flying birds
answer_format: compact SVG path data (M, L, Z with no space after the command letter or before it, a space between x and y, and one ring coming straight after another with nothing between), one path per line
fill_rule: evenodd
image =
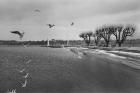
M104 24L134 24L139 38L140 0L0 0L0 40L78 40Z

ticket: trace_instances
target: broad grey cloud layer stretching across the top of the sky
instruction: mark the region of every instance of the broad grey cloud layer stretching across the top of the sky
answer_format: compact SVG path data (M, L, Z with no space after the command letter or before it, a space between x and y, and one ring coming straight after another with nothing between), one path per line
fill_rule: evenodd
M139 0L1 0L0 20L69 21L137 10L139 3ZM38 19L34 16L35 9L42 11Z

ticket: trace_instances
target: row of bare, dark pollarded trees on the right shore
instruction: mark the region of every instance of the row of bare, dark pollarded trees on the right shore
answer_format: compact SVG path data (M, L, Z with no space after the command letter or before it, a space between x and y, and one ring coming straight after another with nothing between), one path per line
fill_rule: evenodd
M115 45L121 47L124 41L129 36L132 36L136 31L134 25L104 25L97 28L94 32L82 32L79 37L83 38L85 43L89 46L91 38L93 37L94 43L98 46L101 39L104 40L105 46L108 47L111 41L111 36L115 37Z

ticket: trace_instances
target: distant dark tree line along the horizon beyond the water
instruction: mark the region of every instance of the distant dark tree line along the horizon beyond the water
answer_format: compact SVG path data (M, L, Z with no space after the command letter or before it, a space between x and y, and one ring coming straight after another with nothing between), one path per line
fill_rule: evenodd
M110 40L110 44L114 45L116 40ZM85 41L83 40L69 40L69 46L81 46ZM94 44L94 39L92 37L90 45ZM15 40L0 40L0 45L47 45L47 40L42 41L15 41ZM105 44L104 40L100 40L98 46L103 46ZM66 40L55 40L50 41L50 45L54 46L67 46ZM122 46L127 47L140 47L140 39L127 39Z

